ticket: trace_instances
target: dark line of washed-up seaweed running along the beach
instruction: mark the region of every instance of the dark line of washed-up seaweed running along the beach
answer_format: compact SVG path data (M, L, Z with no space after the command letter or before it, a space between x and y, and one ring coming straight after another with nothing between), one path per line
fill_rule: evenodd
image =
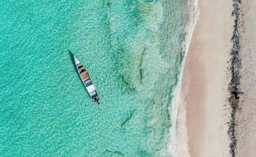
M232 50L231 50L231 81L228 85L228 90L230 93L232 91L238 91L240 85L240 69L241 69L241 59L239 59L239 51L240 51L240 43L239 43L239 4L241 4L240 0L233 0L233 12L232 16L235 17L235 24L234 24L234 31L231 38L231 42L233 43ZM229 144L229 152L232 157L235 157L236 153L236 112L238 110L238 103L239 100L235 98L235 95L230 94L228 98L228 102L231 106L231 118L229 122L229 129L228 135L231 139L231 143Z

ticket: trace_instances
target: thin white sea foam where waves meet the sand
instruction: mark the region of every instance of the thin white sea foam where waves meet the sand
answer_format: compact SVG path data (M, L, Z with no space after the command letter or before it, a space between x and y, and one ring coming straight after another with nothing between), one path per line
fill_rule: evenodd
M178 114L178 108L180 105L180 95L181 95L181 80L182 75L184 71L184 65L185 65L185 59L188 53L189 44L192 39L192 34L194 32L194 29L196 27L196 21L199 19L199 8L198 8L198 0L188 0L188 21L185 26L185 38L183 42L183 51L184 51L184 57L182 61L181 71L180 71L180 78L176 86L176 92L173 93L173 99L172 99L172 105L170 107L171 112L171 119L172 119L172 127L169 128L169 135L167 136L167 149L165 150L165 154L172 154L173 157L177 157L177 140L181 141L182 143L182 149L179 150L182 151L183 157L190 157L188 153L188 137L187 137L187 127L186 127L186 108L184 109L184 112L181 114L181 117L179 117L179 128L182 129L183 136L182 139L177 139L177 114ZM186 104L184 104L186 106ZM163 155L166 156L166 155Z

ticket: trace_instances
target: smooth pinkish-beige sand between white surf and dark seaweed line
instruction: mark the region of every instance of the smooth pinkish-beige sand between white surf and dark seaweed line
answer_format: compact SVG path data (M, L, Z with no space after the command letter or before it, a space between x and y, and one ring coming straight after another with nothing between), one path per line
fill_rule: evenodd
M230 111L226 109L227 61L234 17L232 1L200 0L200 17L185 59L179 114L186 109L188 152L191 157L228 157ZM179 118L177 118L179 124ZM177 127L177 135L180 136ZM183 131L184 133L184 131ZM177 156L181 157L177 142ZM181 150L183 151L183 150Z

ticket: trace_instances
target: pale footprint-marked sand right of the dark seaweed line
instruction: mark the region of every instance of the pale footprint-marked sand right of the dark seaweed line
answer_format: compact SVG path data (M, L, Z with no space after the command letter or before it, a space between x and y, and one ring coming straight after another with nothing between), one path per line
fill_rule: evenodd
M240 90L244 95L236 113L236 157L256 156L256 1L240 4Z

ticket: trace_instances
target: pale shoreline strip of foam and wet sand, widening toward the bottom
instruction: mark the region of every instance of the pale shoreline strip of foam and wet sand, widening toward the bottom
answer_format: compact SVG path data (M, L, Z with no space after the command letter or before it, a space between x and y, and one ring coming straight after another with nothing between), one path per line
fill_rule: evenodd
M188 19L185 26L185 36L183 41L183 60L181 63L181 70L178 83L176 85L176 92L173 94L172 106L170 108L171 116L172 116L172 124L173 126L169 129L171 133L171 137L167 139L169 141L167 146L167 152L171 153L173 156L183 156L189 157L188 154L188 138L187 138L187 128L186 128L186 110L185 106L181 103L181 81L184 72L185 59L188 53L188 48L192 39L192 35L194 29L196 27L196 22L199 18L199 8L198 8L198 0L187 1L188 5ZM178 120L179 119L179 120ZM177 140L178 139L178 140ZM177 144L179 143L179 144ZM179 150L179 151L177 151Z

